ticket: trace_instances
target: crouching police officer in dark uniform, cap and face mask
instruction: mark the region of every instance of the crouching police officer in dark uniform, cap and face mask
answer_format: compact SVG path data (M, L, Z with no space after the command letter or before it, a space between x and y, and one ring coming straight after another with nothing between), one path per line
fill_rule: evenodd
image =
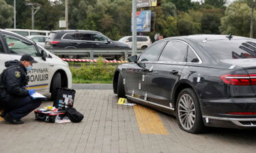
M20 120L41 104L41 99L33 99L30 95L34 89L27 90L27 71L33 63L38 63L29 54L21 56L20 61L7 61L0 75L0 105L3 108L1 117L12 124L23 124Z

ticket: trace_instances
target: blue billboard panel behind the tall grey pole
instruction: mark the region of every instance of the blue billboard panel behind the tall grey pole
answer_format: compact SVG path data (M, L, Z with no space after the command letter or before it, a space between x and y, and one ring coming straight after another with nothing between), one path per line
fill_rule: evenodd
M137 32L150 32L151 10L137 11Z

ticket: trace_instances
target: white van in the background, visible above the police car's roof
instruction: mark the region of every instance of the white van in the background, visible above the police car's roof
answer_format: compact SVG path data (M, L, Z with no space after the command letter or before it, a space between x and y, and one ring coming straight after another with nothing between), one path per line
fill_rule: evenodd
M14 33L18 33L19 35L23 35L24 37L28 35L50 35L50 31L39 31L39 30L30 30L30 29L5 29L7 31L12 31Z

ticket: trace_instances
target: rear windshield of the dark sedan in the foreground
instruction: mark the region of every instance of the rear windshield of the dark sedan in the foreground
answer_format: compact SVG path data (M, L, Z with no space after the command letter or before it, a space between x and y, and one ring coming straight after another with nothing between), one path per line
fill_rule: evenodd
M256 58L256 41L252 39L207 41L201 46L217 60Z

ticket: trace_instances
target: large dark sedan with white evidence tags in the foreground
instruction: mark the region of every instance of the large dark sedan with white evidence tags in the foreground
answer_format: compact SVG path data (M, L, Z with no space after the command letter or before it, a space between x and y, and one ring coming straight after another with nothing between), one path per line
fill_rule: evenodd
M115 71L117 97L173 114L189 133L256 126L256 39L169 37L128 60Z

